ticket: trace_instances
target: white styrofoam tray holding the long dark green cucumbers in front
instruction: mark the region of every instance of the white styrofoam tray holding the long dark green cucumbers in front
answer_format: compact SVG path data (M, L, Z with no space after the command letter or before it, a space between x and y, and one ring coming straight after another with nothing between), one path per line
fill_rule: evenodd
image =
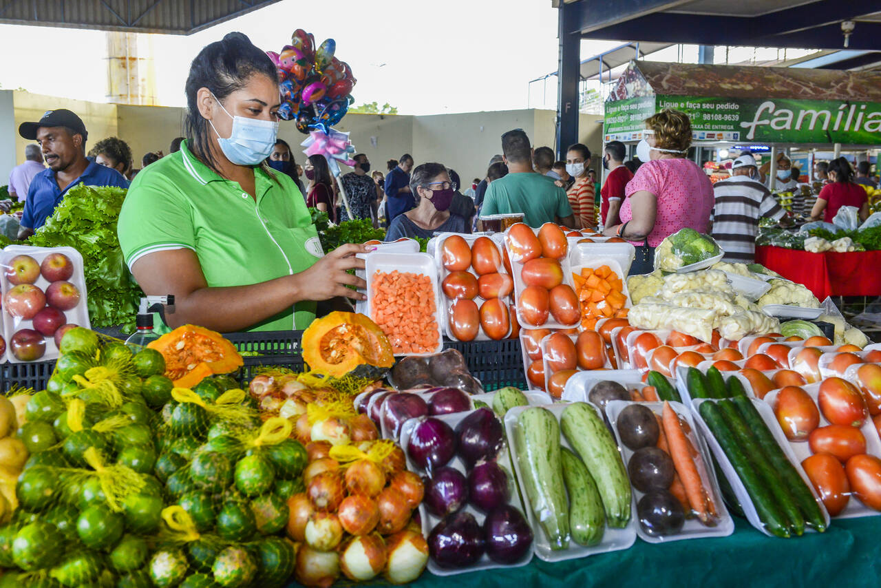
M761 417L762 421L765 421L766 427L768 428L768 430L771 431L771 435L774 435L774 440L777 442L778 445L780 445L781 450L783 450L783 453L784 455L786 455L789 463L796 468L796 472L798 472L798 475L802 477L805 485L808 487L809 490L811 490L811 494L814 495L814 500L817 501L820 511L825 517L826 525L828 525L829 513L826 512L825 506L823 506L823 502L820 500L819 495L817 494L817 490L815 490L813 484L811 484L811 480L809 480L807 474L804 473L801 462L798 461L798 459L796 458L796 454L793 453L792 448L789 446L786 435L783 435L780 424L774 418L774 411L771 410L771 406L768 406L764 400L759 400L758 398L750 398L750 401L752 405L756 407L756 410L759 411L759 416ZM746 491L746 488L744 487L744 482L741 481L740 478L737 476L737 473L731 466L731 462L728 456L726 456L725 452L722 450L722 446L716 440L714 435L710 433L710 429L707 427L707 423L700 416L700 405L704 402L719 402L719 400L716 398L695 398L692 400L694 420L699 425L700 433L706 439L710 450L713 451L713 455L715 456L716 461L722 468L722 473L729 480L731 489L734 490L734 494L737 496L737 502L740 502L741 506L743 507L744 514L746 515L746 519L750 522L750 525L770 537L772 535L770 532L767 532L767 530L765 529L765 525L763 525L761 520L759 519L759 514L756 512L756 507L752 503L752 499L749 493ZM805 532L814 531L812 529L805 529Z

